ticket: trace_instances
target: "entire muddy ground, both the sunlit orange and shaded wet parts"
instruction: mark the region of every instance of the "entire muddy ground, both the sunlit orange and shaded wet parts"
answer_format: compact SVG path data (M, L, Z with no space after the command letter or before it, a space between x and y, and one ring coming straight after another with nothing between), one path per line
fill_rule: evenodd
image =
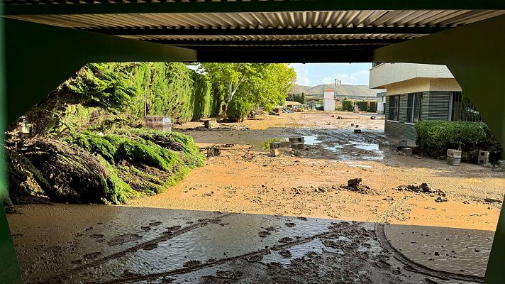
M399 155L379 146L383 125L368 114L316 112L212 131L178 126L201 147L233 145L179 185L128 206L19 206L8 219L24 280L482 282L501 208L484 199L502 199L502 172ZM262 148L289 136L305 137L301 156ZM368 188L340 187L351 178ZM448 201L396 190L422 182Z

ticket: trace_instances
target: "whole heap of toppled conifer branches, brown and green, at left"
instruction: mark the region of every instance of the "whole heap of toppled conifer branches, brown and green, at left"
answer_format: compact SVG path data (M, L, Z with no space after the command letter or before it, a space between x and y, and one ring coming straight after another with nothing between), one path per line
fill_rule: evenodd
M191 137L148 129L33 138L7 153L11 197L73 203L119 204L160 193L204 163Z

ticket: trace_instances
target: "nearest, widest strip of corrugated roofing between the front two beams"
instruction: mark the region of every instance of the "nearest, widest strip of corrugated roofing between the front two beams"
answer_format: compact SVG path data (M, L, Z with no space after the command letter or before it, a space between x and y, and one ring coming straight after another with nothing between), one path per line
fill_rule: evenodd
M65 28L343 28L455 27L503 10L324 11L274 13L134 13L9 16Z

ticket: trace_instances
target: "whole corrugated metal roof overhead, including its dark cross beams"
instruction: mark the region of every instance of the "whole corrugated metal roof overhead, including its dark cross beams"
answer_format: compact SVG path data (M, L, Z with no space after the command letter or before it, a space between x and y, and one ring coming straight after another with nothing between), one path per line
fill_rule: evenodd
M443 2L445 6L453 6L453 2ZM238 7L244 3L248 8L240 11ZM221 42L223 46L250 43L250 46L359 45L374 48L505 14L505 10L464 9L284 11L279 3L295 10L299 10L301 4L305 7L321 4L314 6L318 10L343 5L331 5L328 1L282 0L4 0L9 18L184 46L209 45L206 41L212 41L211 44ZM227 6L223 12L215 12L218 10L214 9L216 4ZM160 5L164 5L162 9L158 9ZM167 9L170 5L174 10ZM198 5L209 9L195 9ZM270 5L271 11L261 9L265 5ZM272 5L277 5L277 10ZM187 8L189 6L193 8ZM38 11L40 7L43 9ZM121 9L113 9L116 7ZM233 10L231 7L237 12L226 12ZM257 11L250 11L255 7ZM23 8L27 8L26 13ZM177 12L187 11L184 9L193 12Z

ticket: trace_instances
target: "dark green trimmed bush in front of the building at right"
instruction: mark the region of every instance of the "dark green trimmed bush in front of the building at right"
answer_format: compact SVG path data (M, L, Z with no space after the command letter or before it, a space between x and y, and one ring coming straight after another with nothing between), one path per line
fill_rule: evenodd
M461 160L471 163L477 162L479 151L489 151L492 161L501 155L499 142L482 122L418 121L416 131L419 152L433 158L445 158L447 149L461 150Z

